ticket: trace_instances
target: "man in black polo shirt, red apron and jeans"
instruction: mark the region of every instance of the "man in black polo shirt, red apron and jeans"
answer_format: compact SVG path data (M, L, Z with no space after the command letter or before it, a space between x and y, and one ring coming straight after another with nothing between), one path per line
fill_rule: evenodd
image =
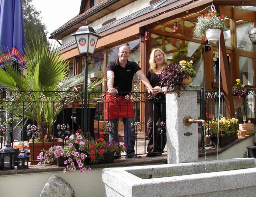
M108 77L108 91L106 94L106 119L114 127L113 133L109 134L109 141L119 142L118 138L118 120L123 119L124 123L124 141L127 143L127 156L126 158L140 158L141 156L135 155L135 133L132 133L131 123L134 122L134 110L132 100L125 98L132 91L132 79L134 73L147 87L148 92L154 96L150 82L142 72L139 65L134 61L128 61L131 55L130 48L127 45L120 46L118 50L118 59L108 63L107 77ZM115 154L115 158L120 156Z

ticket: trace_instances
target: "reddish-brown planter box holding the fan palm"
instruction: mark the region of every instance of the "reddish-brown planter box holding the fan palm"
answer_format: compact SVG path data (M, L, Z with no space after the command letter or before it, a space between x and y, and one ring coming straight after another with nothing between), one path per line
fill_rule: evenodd
M54 146L55 145L62 145L61 141L58 142L54 142ZM44 142L44 150L49 150L49 148L51 148L53 146L52 142ZM34 142L34 146L33 146L33 142L28 143L28 147L30 150L30 161L33 160L37 160L37 156L39 156L40 152L42 152L43 150L43 142ZM38 161L36 162L30 162L30 165L36 165L38 164Z

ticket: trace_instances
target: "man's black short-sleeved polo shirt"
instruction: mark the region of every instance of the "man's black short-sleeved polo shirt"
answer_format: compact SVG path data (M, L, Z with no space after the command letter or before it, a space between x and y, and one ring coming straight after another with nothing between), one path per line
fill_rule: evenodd
M107 71L114 72L114 88L118 93L132 91L132 79L134 73L139 70L141 70L141 68L134 61L127 61L124 68L119 64L118 60L111 61L107 66Z

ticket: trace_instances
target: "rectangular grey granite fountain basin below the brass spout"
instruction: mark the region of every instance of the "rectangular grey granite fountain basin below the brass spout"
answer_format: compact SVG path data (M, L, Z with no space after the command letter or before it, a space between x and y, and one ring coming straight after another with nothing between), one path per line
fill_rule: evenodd
M106 168L102 179L106 197L250 197L256 196L256 159Z

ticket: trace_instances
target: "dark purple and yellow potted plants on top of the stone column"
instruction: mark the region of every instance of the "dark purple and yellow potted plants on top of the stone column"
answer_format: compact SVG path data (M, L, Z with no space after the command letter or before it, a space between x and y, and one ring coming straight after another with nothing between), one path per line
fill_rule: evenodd
M189 85L194 77L196 71L193 69L192 61L180 61L177 63L170 63L161 72L161 86L166 88L166 91L177 90L178 95L184 85Z

